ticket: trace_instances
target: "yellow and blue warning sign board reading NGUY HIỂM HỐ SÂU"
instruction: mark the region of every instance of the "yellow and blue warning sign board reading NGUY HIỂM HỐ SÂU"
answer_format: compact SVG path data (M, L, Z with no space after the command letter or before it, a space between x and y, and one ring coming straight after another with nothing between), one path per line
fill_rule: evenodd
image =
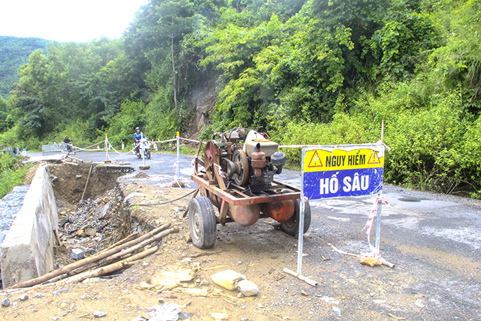
M383 188L384 149L336 146L306 150L303 194L308 199L373 194Z

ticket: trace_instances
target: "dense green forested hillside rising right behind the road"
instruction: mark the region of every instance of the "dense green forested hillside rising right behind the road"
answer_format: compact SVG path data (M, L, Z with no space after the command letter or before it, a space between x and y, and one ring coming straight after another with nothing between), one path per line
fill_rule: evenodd
M0 143L192 134L215 83L204 139L241 124L282 144L366 143L384 119L388 182L478 197L480 1L151 0L121 39L30 54Z

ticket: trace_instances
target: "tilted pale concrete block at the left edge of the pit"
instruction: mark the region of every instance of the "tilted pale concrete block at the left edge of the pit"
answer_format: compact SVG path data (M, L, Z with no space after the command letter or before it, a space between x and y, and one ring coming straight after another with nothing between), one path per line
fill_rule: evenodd
M0 246L4 288L52 271L57 204L47 165L37 169L21 210Z

